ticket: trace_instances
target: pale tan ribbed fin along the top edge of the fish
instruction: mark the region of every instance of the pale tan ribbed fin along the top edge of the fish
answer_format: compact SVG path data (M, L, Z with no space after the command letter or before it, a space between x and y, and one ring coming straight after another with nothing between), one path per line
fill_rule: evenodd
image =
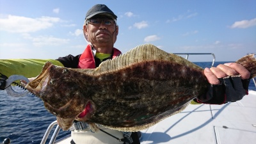
M194 63L191 63L180 56L158 49L155 45L144 44L138 45L134 49L131 49L131 51L128 51L113 60L102 62L98 68L95 68L95 74L103 74L104 72L111 72L113 70L119 70L120 68L127 67L132 65L132 63L151 60L172 61L173 63L178 63L186 67L203 70L201 67L198 67Z

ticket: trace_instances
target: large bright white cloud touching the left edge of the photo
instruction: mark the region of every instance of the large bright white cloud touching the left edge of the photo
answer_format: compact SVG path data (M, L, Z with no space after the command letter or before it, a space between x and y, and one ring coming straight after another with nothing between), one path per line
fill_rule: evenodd
M0 31L8 31L11 33L32 33L42 29L51 28L54 23L60 22L58 17L21 17L16 15L8 15L6 18L0 19Z

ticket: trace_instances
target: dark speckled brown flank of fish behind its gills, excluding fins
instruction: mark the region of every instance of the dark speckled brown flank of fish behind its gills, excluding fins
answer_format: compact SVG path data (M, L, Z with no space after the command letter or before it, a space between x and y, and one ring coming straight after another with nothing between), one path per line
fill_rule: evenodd
M112 127L150 124L179 111L205 93L206 86L201 70L168 61L136 63L95 77L88 87L96 92L92 101L97 109L87 122Z

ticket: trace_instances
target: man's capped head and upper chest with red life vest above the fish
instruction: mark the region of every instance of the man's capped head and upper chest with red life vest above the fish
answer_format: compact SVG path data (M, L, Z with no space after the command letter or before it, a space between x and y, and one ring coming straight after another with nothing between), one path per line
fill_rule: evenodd
M118 35L117 16L104 4L93 6L84 21L84 37L89 42L83 54L57 59L65 67L96 68L102 61L115 58L121 52L113 45Z

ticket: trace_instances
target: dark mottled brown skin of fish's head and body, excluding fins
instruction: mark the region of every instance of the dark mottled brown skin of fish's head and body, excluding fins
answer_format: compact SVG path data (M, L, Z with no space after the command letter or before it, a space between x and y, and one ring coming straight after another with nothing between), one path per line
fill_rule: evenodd
M95 111L86 122L132 127L172 115L207 86L202 70L169 61L143 61L100 76L84 71L51 65L49 86L35 94L61 118L76 117L91 101Z

